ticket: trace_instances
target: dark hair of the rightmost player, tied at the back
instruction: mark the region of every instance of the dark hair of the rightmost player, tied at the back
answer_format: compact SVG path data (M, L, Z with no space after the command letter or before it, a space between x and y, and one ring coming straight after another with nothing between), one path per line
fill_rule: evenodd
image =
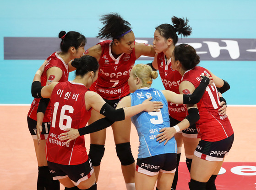
M185 43L176 46L173 55L175 61L179 60L185 70L193 69L200 62L194 47Z

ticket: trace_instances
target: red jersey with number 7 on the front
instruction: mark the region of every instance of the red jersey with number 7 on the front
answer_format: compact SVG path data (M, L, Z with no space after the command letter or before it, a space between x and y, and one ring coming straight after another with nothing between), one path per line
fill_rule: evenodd
M102 51L99 59L98 79L90 90L107 100L117 100L130 93L128 79L131 66L136 61L135 48L130 54L122 53L117 59L111 53L112 41L99 43Z

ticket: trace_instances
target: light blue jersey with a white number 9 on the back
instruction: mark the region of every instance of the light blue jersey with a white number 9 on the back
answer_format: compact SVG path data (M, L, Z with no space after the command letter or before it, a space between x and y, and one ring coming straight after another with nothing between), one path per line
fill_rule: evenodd
M131 95L131 106L141 104L147 98L153 97L151 101L161 101L163 108L159 112L141 112L131 117L139 135L140 146L138 158L147 158L165 153L177 153L177 144L172 137L166 145L157 142L156 136L159 130L170 127L168 104L160 90L154 88L142 88Z

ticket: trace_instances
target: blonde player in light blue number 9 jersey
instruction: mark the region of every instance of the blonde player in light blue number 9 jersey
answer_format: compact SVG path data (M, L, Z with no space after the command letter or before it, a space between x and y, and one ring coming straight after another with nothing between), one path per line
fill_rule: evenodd
M137 64L130 72L128 83L130 96L124 97L117 108L130 107L141 104L152 97L152 101L163 102L163 108L159 112L141 112L131 117L139 136L139 153L136 163L135 187L138 190L153 190L157 182L158 190L170 190L176 170L177 145L174 134L184 130L199 120L196 107L188 109L188 116L180 121L173 130L170 127L168 104L194 104L199 102L205 88L212 81L202 75L202 82L192 95L178 95L169 90L157 90L151 88L152 80L158 73L147 64ZM162 133L160 133L160 132ZM164 143L161 143L163 142ZM125 155L124 155L125 156Z

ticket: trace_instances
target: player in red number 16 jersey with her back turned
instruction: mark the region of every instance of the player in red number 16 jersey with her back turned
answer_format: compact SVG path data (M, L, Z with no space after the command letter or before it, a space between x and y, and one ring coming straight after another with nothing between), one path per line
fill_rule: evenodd
M91 116L92 108L111 121L119 121L142 111L156 111L162 108L163 104L146 100L141 105L115 110L100 95L88 90L98 77L99 65L96 58L87 55L74 59L71 64L76 68L74 80L62 83L53 82L41 87L40 77L44 69L43 65L35 74L32 95L51 98L53 113L46 144L46 158L54 179L59 179L66 190L96 190L96 178L91 161L88 159L84 136L65 143L60 141L61 134L66 128L80 129L83 127L87 130L89 126L84 126ZM96 124L94 127L100 130L105 121L101 124ZM65 132L65 135L68 137L69 133Z

